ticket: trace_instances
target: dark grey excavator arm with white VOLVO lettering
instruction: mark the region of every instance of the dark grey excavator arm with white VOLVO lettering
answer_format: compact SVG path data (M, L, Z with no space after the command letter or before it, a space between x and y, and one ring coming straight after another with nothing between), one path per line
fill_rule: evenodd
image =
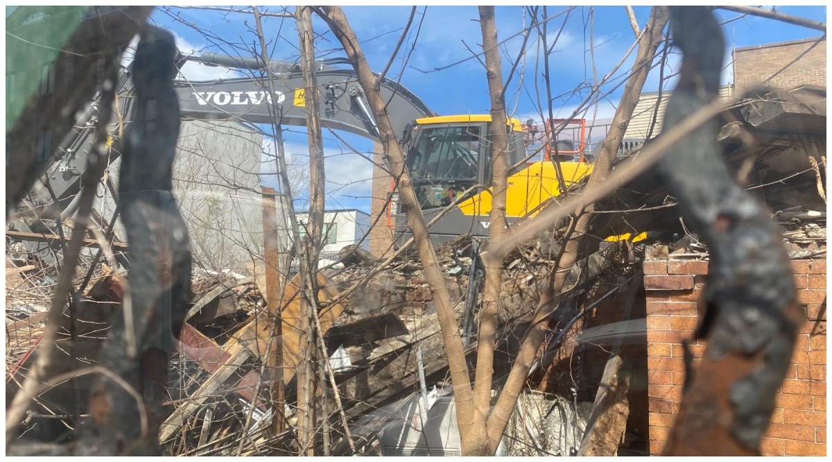
M282 125L305 126L305 89L300 68L292 62L270 62L261 66L254 58L230 57L216 53L203 53L198 57L181 58L185 61L202 62L209 66L225 66L245 69L251 77L236 77L207 82L177 80L174 89L179 98L183 120L215 120L266 124L278 122ZM324 127L351 132L376 140L378 129L364 93L352 69L339 69L330 64L345 60L339 58L319 62L318 82L321 92L321 122ZM271 73L275 92L269 91L268 76L261 69ZM131 67L121 72L119 82L120 117L111 121L113 140L118 142L120 133L130 125L135 114L133 99L135 89L131 81ZM390 117L404 141L410 135L415 119L432 116L428 107L413 92L389 78L380 82L381 92L391 107ZM87 166L87 155L92 149L92 131L97 121L98 103L92 102L72 132L64 137L61 145L47 166L46 177L49 188L39 188L33 199L49 207L39 216L57 217L72 214L72 198L77 196L80 178ZM119 126L123 122L123 126ZM114 156L118 155L117 150ZM113 159L111 159L113 160ZM57 199L57 202L54 201Z

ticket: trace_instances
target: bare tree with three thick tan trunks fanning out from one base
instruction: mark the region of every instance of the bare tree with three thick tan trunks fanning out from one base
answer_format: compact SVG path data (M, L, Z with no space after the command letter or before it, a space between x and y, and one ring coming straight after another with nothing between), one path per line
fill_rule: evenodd
M478 347L478 354L483 355L483 359L478 359L478 366L483 366L483 372L478 370L478 377L476 383L478 384L477 393L471 387L468 366L465 363L463 355L463 348L458 334L458 324L453 317L453 310L448 306L448 292L445 286L442 274L438 271L438 264L436 263L436 256L433 251L433 246L430 243L427 227L424 224L423 216L421 215L420 207L416 201L413 192L413 187L409 179L407 171L404 171L404 159L401 154L398 142L392 131L389 122L387 121L386 108L382 100L379 90L378 81L369 69L366 58L361 52L358 39L355 37L349 22L344 16L344 12L339 7L325 7L321 12L321 16L329 23L336 37L344 46L344 49L349 56L350 61L358 73L359 82L364 89L364 94L367 96L370 107L374 113L374 117L379 125L379 131L382 133L382 141L384 144L384 152L390 157L391 163L394 165L394 172L401 175L399 181L399 194L401 201L404 204L405 213L408 218L408 225L414 235L414 241L418 248L419 256L425 269L425 276L433 292L433 301L436 304L438 312L439 324L442 328L443 341L448 352L448 365L453 380L453 393L455 397L458 426L460 439L463 445L463 454L466 455L493 455L496 450L499 440L503 437L503 430L508 424L508 419L512 414L514 404L517 402L526 382L528 370L532 365L532 361L537 356L537 350L542 345L544 330L547 325L547 320L552 314L554 306L556 306L557 294L560 293L564 282L566 281L567 271L563 271L571 267L578 258L578 251L580 249L582 236L585 236L589 225L589 215L587 215L587 207L591 210L591 205L582 204L576 211L577 219L572 220L571 231L573 236L567 241L564 246L564 254L559 260L557 271L552 272L550 277L550 284L548 291L543 296L541 304L537 307L532 327L528 331L526 338L522 342L522 346L518 353L517 359L513 364L512 370L508 375L508 380L504 385L503 391L500 393L497 404L490 412L488 408L483 408L481 405L486 401L484 397L490 397L491 392L491 373L488 371L488 350L493 351L492 346ZM490 18L489 18L490 17ZM493 27L493 13L489 15L488 8L481 11L481 21L483 21L483 48L488 53L489 48L486 43L496 44L496 30ZM639 41L639 50L636 57L636 62L633 65L631 77L627 81L624 96L622 97L622 104L619 106L616 117L613 120L613 129L607 135L604 142L602 153L599 156L595 171L590 179L588 187L592 187L594 183L600 183L607 177L612 159L615 156L618 145L621 143L624 131L626 129L626 122L630 119L632 111L638 101L638 96L641 92L646 80L647 73L650 70L652 58L656 54L656 49L661 42L661 32L667 22L666 9L663 7L654 7L651 12L650 22L646 25L646 32L642 34ZM490 24L490 26L488 25ZM496 55L497 53L494 52ZM491 62L488 64L489 81L499 78L500 86L491 87L490 92L492 98L492 113L495 120L492 123L500 124L501 121L497 118L500 114L500 107L503 104L499 101L499 95L502 93L502 77L494 75L494 69L499 67L498 62ZM496 94L495 94L496 92ZM496 112L495 112L496 111ZM504 108L502 113L504 114ZM503 116L504 117L504 116ZM494 132L504 132L497 129ZM505 149L503 145L503 149ZM499 149L499 147L498 147ZM501 158L495 155L495 160ZM495 166L500 169L499 166ZM504 181L504 180L502 180ZM497 186L499 188L499 186ZM499 207L499 206L498 206ZM504 212L503 212L504 213ZM497 216L499 220L500 211L493 211L492 216ZM493 225L494 226L494 225ZM499 227L499 226L494 226ZM499 232L499 231L498 231ZM496 263L490 262L489 268L497 268L502 266L502 257L489 255L488 259L496 260ZM492 287L487 287L488 305L483 310L483 327L487 343L493 341L489 338L493 335L493 315L496 306L493 300L493 294L499 294L499 290L493 287L493 284L498 283L499 280L489 279ZM482 335L482 334L481 334ZM493 365L491 365L493 367ZM475 396L478 400L475 401Z

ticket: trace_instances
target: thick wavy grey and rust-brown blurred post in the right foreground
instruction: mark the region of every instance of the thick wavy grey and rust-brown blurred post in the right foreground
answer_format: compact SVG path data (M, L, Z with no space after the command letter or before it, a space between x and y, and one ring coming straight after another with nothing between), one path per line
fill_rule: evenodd
M683 57L665 130L716 98L725 45L706 7L671 7L671 27ZM708 346L696 373L686 371L689 385L666 455L759 455L802 322L780 230L726 168L718 130L712 117L659 164L686 222L711 252L695 332Z

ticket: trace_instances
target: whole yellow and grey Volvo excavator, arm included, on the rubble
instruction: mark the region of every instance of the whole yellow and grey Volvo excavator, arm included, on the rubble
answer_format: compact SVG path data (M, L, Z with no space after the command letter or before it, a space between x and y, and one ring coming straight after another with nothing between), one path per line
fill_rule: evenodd
M208 66L223 66L259 71L262 63L255 58L232 57L213 52L200 56L179 57L181 67L186 61ZM345 58L319 62L317 78L320 94L320 115L324 127L352 132L378 140L379 131L369 112L364 92L351 68L334 65L348 64ZM257 78L237 77L208 82L175 82L181 117L185 120L239 120L251 124L274 123L275 114L284 125L305 126L306 107L304 82L300 68L293 62L271 62L273 91ZM448 241L460 234L488 236L491 211L492 147L489 137L489 115L461 115L438 117L413 92L388 78L380 82L382 97L389 102L391 123L401 133L406 153L406 165L411 173L418 201L426 221L431 221L453 203L453 210L443 214L430 231L435 244ZM119 80L119 119L131 121L135 107L131 104L134 87L131 68L123 69ZM52 193L40 197L42 203L55 201L58 211L72 208L77 197L80 178L87 166L87 153L92 147L92 127L97 102L77 123L76 130L64 137L44 166L50 177ZM537 161L525 162L530 143L544 142L551 137L555 123L550 121L545 130L537 132L532 124L524 126L510 119L509 163L515 169L508 178L508 221L523 216L534 216L540 206L552 196L592 172L592 164L584 157L584 122L580 135L550 142ZM577 143L577 146L575 146ZM555 156L560 159L564 185L557 178ZM384 191L380 191L384 193ZM378 196L379 191L376 191ZM46 192L41 191L41 195ZM404 213L399 210L393 191L388 208L389 226L394 227L399 239L409 234L404 225ZM35 198L37 201L37 198Z

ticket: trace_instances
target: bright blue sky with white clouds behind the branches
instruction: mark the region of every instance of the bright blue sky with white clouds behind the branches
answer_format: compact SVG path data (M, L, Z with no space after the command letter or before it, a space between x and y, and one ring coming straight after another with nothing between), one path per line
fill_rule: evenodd
M290 7L294 12L294 7ZM552 16L563 12L566 7L548 7L548 15ZM261 7L262 11L281 12L280 7ZM407 22L411 7L351 7L345 6L349 21L351 22L364 52L367 55L370 66L375 71L380 71L389 60L395 43L399 39L404 24ZM576 89L586 87L593 82L593 72L590 60L590 30L592 29L592 43L596 62L596 74L601 78L617 64L631 47L635 37L626 17L624 7L594 7L592 9L592 20L590 18L590 7L576 7L569 13L567 25L555 47L556 52L550 61L552 73L552 94L567 94L556 100L554 112L556 117L565 117L581 101L586 91L575 92ZM636 19L643 27L649 16L649 7L634 7ZM777 7L780 12L791 15L814 19L815 21L826 21L826 8L822 6L810 7ZM423 13L424 12L424 13ZM498 37L503 40L510 37L528 23L528 16L523 13L522 7L497 7ZM735 12L717 10L717 17L721 21L728 21L740 16ZM547 36L551 39L557 34L561 27L564 16L552 19L548 25ZM177 21L178 18L181 21ZM339 42L328 32L324 22L314 18L315 32L322 33L316 47L318 57L344 57L343 51L339 50ZM225 13L216 11L204 11L196 9L177 9L163 11L157 9L152 19L161 27L166 27L175 32L180 39L180 47L183 52L224 52L226 54L244 54L250 56L251 44L256 42L253 33L253 17L240 13ZM471 57L466 49L466 44L476 52L480 52L479 43L482 36L479 28L478 9L473 6L443 7L428 6L417 8L414 17L414 25L404 42L399 56L390 68L388 77L398 79L412 92L427 103L434 112L442 115L459 113L488 113L490 102L488 98L488 84L486 82L483 67L476 59L459 63L441 71L433 71L433 67L445 67L454 62ZM246 23L247 21L247 23ZM188 26L183 22L196 25ZM415 31L421 22L421 30L415 42ZM591 27L592 26L592 27ZM295 22L289 18L264 17L264 28L269 38L270 56L275 60L295 62L297 52L297 32ZM819 37L821 32L805 27L793 26L783 22L775 22L760 17L744 17L723 26L726 35L726 51L732 47L747 47L770 42L783 42L807 37ZM532 33L532 37L536 34ZM230 42L231 45L223 42ZM518 53L522 43L522 37L514 37L503 46L503 77L508 76L510 61ZM551 44L551 42L550 42ZM404 66L403 57L414 47L407 66ZM534 96L536 65L539 66L537 75L542 73L542 62L537 62L537 42L530 38L525 57L525 67L522 69L522 80L518 76L513 77L513 82L507 92L507 106L509 112L514 116L525 120L528 117L535 117L537 105ZM635 53L626 60L621 70L616 75L622 75L629 71ZM674 72L678 64L676 57L671 57L666 75ZM427 71L427 72L423 72ZM216 67L204 67L191 63L185 72L191 79L221 77L224 72ZM615 80L608 87L621 82ZM522 87L520 83L522 82ZM723 75L723 82L732 82L732 69L730 66L730 52L726 53L726 72ZM545 94L542 82L538 80L540 92ZM672 85L672 82L669 82ZM657 68L648 77L645 92L655 92L659 87L659 73ZM590 107L586 114L587 119L592 119L593 114L597 118L612 117L615 111L618 98L621 95L622 87L612 90L607 100L599 103L597 107ZM285 134L286 150L292 155L292 161L303 164L306 152L305 132L297 127L291 127L290 132ZM349 134L340 134L351 146L364 152L372 148L371 142L364 138ZM327 207L328 208L359 208L369 211L369 177L371 166L362 156L349 152L348 147L340 146L334 137L324 131L324 147L327 156ZM274 181L265 179L266 186L275 186ZM302 205L301 205L302 206Z

